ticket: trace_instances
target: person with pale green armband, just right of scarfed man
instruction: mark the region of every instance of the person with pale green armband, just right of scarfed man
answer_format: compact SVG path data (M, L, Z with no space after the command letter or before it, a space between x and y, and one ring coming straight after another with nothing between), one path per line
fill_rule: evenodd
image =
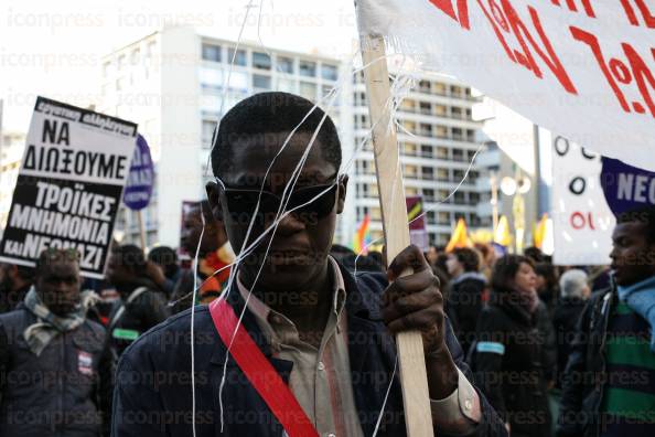
M107 280L120 299L109 315L108 348L115 362L139 335L169 317L167 301L150 279L143 252L131 244L111 249L106 268Z

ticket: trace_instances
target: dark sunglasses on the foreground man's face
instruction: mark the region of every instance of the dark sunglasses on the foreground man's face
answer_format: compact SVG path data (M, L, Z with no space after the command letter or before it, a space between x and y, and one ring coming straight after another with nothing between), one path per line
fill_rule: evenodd
M219 178L215 179L221 186L221 194L233 220L245 224L249 223L258 202L257 224L262 224L276 217L282 203L280 195L267 190L228 188ZM318 221L328 216L336 203L336 188L341 180L336 177L331 179L333 181L330 183L293 190L288 198L284 211L293 210L292 214L305 222Z

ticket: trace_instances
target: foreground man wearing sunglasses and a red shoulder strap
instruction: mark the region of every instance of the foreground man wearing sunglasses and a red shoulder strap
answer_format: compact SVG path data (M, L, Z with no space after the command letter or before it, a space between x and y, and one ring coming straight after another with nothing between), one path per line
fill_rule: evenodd
M405 435L393 333L416 329L436 431L506 434L469 382L420 251L406 248L387 275L357 277L329 256L347 186L340 166L334 124L304 98L258 94L223 117L207 195L238 255L232 285L126 352L115 436L192 435L192 427L207 437ZM397 279L407 268L414 274ZM172 334L181 340L165 343ZM159 374L176 376L144 377Z

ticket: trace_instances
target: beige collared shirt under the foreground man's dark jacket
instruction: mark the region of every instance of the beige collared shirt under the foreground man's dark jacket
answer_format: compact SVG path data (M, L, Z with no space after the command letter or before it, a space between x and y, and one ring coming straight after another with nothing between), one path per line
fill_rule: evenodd
M336 262L329 257L333 275L332 308L320 347L300 339L287 317L273 311L237 280L238 289L273 356L293 363L289 387L320 436L363 437L351 382L345 315L345 286ZM459 387L441 401L432 401L432 416L444 430L465 434L480 422L477 394L460 372Z

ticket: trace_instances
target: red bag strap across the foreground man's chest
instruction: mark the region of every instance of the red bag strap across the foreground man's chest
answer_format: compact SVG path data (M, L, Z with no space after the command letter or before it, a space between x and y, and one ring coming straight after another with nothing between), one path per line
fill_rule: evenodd
M291 390L238 322L229 303L225 299L216 299L210 303L210 312L221 340L229 348L237 365L282 424L289 437L319 437Z

